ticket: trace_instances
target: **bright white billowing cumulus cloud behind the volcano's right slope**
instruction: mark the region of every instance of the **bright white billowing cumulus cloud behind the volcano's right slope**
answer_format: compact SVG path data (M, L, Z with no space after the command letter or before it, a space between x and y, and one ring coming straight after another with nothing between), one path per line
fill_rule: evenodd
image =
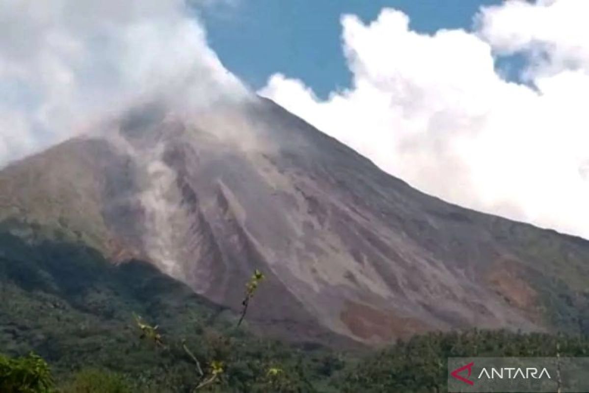
M393 9L346 15L352 88L319 100L276 74L259 94L418 189L589 239L588 14L586 0L510 1L433 35ZM515 53L526 84L494 70Z

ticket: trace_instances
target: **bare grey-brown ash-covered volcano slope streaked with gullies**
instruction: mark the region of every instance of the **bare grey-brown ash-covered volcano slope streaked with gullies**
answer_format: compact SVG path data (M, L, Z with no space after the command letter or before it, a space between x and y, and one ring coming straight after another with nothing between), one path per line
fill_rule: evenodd
M103 128L3 170L0 216L235 309L263 270L248 318L292 339L584 329L589 242L420 193L271 101Z

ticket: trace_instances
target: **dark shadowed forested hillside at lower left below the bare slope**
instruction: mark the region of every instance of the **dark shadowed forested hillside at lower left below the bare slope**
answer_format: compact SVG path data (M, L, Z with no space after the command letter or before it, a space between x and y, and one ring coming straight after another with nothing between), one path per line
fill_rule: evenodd
M140 339L135 313L146 326L159 325L165 345ZM98 369L123 376L133 391L191 391L199 378L184 346L207 378L219 374L201 391L304 391L335 369L325 366L333 357L327 350L259 339L238 321L147 263L114 266L81 243L25 242L0 231L0 352L34 351L59 387L79 386L90 377L72 374Z

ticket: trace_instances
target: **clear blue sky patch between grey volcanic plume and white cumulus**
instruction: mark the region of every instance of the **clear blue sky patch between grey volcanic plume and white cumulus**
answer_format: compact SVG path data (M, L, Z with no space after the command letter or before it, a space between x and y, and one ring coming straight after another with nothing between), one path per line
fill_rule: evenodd
M348 87L342 54L342 14L373 21L385 7L411 19L411 29L472 27L484 5L499 0L237 0L205 10L209 44L226 67L255 90L274 72L306 82L319 97Z

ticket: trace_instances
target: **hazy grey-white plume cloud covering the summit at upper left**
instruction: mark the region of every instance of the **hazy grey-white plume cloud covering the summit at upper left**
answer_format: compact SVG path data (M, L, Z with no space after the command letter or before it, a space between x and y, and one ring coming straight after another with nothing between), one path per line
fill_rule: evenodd
M0 2L0 165L138 100L241 94L182 0Z

